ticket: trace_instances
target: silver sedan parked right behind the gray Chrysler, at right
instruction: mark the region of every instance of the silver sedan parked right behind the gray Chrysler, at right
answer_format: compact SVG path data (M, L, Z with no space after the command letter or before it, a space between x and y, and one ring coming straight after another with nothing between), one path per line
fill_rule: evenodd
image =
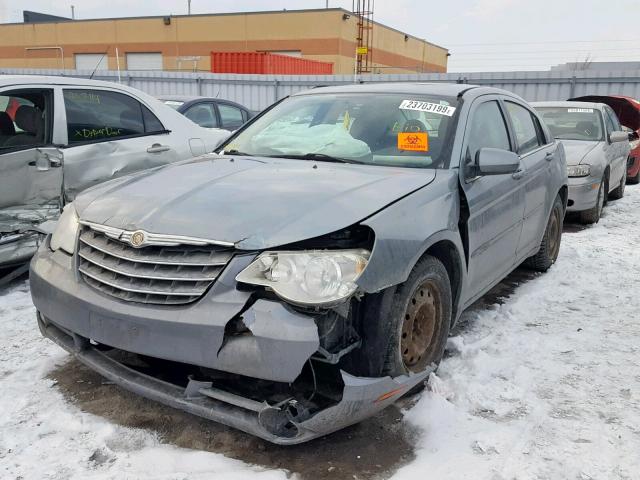
M531 104L564 144L569 174L567 210L582 223L597 223L608 198L624 195L631 146L615 112L604 103Z

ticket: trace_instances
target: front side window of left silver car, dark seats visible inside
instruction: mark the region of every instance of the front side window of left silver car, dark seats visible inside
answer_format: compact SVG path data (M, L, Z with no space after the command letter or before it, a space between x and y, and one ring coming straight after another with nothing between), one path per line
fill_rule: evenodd
M0 94L0 150L50 142L51 100L50 90L14 90Z

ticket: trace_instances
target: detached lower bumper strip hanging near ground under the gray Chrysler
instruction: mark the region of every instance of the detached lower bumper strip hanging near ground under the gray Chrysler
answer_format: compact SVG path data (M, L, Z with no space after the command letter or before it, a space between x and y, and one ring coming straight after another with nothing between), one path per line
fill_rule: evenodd
M87 339L65 332L40 315L38 325L45 337L133 393L280 445L307 442L358 423L393 403L432 371L397 378L361 378L342 372L342 400L298 422L281 406L225 394L212 389L209 382L191 381L182 388L144 375L100 352Z

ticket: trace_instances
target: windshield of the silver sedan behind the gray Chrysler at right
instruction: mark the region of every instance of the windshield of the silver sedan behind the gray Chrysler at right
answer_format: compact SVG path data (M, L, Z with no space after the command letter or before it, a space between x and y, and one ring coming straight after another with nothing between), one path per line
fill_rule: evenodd
M594 108L538 107L551 134L558 140L601 141L602 117Z

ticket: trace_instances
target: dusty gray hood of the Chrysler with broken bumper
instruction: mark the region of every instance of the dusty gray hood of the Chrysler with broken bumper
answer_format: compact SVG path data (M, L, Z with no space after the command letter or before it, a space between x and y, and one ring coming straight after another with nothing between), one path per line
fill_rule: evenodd
M82 221L254 250L353 225L429 184L434 170L208 155L77 197Z

